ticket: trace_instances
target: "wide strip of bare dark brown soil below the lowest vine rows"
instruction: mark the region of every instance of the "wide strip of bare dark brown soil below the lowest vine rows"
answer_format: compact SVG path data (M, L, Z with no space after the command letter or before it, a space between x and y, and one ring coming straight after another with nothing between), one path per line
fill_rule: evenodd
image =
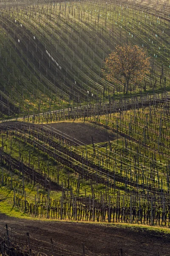
M81 253L81 243L93 253L123 256L170 256L170 234L145 228L122 228L120 225L88 224L63 221L30 221L0 214L0 225L8 224L18 233L29 232L36 239L54 241L68 250ZM0 226L1 228L1 226ZM41 243L43 246L43 243ZM97 254L96 254L97 255Z

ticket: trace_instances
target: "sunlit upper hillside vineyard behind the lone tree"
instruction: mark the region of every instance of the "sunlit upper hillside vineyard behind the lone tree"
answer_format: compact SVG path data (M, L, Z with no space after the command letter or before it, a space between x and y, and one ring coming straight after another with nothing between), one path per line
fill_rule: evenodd
M152 1L153 3L156 1ZM150 75L130 93L169 87L169 4L147 1L1 1L1 118L107 102L121 81L103 79L103 61L116 45L147 49Z

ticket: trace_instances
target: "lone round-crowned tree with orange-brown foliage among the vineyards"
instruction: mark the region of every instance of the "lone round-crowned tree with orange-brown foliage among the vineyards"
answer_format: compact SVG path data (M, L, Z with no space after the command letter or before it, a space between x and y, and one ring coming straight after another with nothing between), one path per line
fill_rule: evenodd
M124 93L128 93L130 83L142 81L149 73L150 62L146 51L137 45L117 46L105 60L105 67L102 70L108 81L122 80Z

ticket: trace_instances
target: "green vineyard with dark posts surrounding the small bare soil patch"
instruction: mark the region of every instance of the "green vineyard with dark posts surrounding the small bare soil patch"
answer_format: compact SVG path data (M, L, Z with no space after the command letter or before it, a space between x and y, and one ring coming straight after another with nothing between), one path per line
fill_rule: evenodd
M92 137L90 145L58 131L56 123L35 124L49 116L2 123L0 182L28 215L169 226L169 104L169 95L162 94L51 117L113 132L112 139L108 134L108 141L97 144ZM37 187L34 195L27 197L25 183Z

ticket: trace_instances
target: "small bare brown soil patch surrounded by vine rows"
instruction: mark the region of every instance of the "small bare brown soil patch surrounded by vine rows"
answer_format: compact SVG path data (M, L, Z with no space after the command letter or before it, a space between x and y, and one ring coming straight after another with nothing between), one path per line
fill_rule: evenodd
M110 140L115 139L115 136L109 134L105 128L87 122L59 122L53 123L52 127L59 130L61 133L63 132L71 136L70 139L77 139L87 145L92 144L91 137L93 137L94 143L107 142L108 135Z

